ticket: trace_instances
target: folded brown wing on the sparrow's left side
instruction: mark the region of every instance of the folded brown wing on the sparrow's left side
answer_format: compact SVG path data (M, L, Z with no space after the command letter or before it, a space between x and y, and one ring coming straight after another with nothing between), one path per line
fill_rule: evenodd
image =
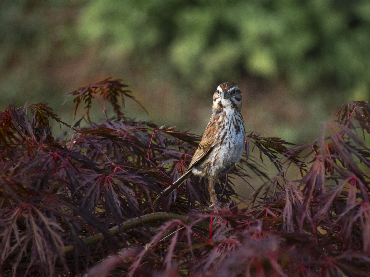
M217 136L217 121L219 119L219 115L212 116L208 122L207 128L204 131L201 143L198 146L198 149L195 151L194 156L189 164L188 170L191 170L196 163L202 160L205 155L207 155L213 147L216 146L216 136Z

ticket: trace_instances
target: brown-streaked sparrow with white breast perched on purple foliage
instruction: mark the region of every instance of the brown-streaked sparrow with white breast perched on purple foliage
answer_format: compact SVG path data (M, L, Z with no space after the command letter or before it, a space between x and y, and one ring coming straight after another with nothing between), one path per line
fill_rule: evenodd
M191 174L208 177L212 204L219 207L215 184L239 163L244 150L245 129L240 114L242 94L235 83L222 83L213 94L212 116L188 170L173 185L179 186ZM174 191L168 187L162 195Z

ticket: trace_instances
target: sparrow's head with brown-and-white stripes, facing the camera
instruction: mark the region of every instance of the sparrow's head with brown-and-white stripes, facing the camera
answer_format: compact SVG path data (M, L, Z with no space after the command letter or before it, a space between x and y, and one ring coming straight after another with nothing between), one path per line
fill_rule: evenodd
M220 84L213 93L212 111L223 109L242 108L242 93L236 83L228 82Z

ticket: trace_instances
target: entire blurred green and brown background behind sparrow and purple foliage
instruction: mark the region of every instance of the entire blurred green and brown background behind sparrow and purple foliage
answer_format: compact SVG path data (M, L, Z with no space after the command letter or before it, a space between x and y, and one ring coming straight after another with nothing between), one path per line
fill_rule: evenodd
M213 91L232 81L247 131L301 144L369 99L369 50L368 0L1 0L0 107L60 110L112 76L149 111L127 101L127 116L202 134Z

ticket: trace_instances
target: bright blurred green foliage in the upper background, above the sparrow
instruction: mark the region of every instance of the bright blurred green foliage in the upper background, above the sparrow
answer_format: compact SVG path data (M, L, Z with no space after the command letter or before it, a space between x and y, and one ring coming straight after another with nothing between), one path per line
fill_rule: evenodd
M297 90L370 83L368 1L92 0L78 29L108 57L169 63L205 87L245 72Z

